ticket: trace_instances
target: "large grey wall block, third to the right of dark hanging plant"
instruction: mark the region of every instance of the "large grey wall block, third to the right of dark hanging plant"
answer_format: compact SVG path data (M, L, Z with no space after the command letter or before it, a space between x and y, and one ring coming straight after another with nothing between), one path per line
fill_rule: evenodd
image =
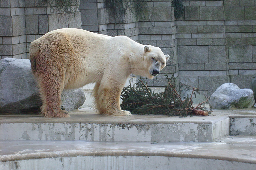
M244 20L245 8L237 6L225 6L225 19L226 20Z

